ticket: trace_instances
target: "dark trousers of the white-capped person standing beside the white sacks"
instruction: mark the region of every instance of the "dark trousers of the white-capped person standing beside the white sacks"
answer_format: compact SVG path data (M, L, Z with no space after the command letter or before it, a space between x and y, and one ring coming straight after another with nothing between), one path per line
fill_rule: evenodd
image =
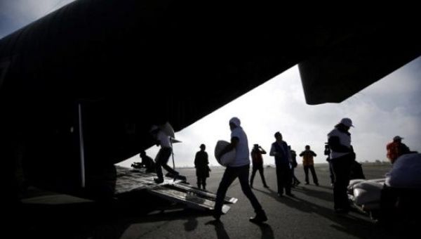
M352 160L350 155L345 155L330 161L335 176L335 182L333 183L333 202L335 209L349 209L350 207L347 187L349 185Z

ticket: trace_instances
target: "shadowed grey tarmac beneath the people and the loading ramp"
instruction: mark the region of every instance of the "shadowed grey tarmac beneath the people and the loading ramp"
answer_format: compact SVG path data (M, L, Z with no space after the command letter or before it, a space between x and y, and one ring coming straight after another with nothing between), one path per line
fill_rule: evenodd
M390 164L363 164L366 179L384 177ZM187 182L196 185L195 169L178 169ZM216 192L223 167L213 167L207 189ZM269 188L264 188L256 174L256 197L267 213L265 224L248 221L253 207L243 195L239 181L227 195L238 198L229 212L215 221L209 212L168 205L145 195L131 195L130 200L113 205L81 202L54 209L25 209L25 220L16 235L41 238L401 238L412 227L385 227L357 210L335 214L328 164L316 165L319 186L310 176L304 185L302 167L295 169L301 184L293 188L295 198L276 195L276 172L265 167ZM311 174L310 174L311 175ZM413 228L415 229L415 227ZM415 230L416 231L416 230Z

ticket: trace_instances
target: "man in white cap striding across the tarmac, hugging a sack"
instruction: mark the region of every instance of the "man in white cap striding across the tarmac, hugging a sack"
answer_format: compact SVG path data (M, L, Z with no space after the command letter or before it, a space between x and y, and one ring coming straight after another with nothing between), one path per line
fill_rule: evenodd
M236 155L234 161L227 165L222 180L218 187L215 200L215 209L213 212L213 217L219 220L222 214L222 204L224 202L225 193L231 183L239 178L241 184L241 190L243 190L244 195L250 200L251 205L255 209L255 217L249 219L249 221L254 223L261 223L267 221L265 211L263 211L262 206L260 205L258 199L253 194L253 191L248 184L248 173L250 171L250 158L248 150L248 140L247 135L241 128L241 122L239 118L232 117L229 120L229 129L231 129L231 143L224 148L219 155L216 155L220 158L225 153L231 151L233 148L236 150Z

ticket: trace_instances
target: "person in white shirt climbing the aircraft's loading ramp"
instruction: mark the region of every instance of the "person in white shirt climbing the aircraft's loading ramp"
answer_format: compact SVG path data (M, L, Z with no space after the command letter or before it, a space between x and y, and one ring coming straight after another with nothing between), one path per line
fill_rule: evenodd
M162 183L163 182L163 174L162 174L162 167L166 169L167 172L174 175L174 178L176 178L179 173L168 166L168 159L171 156L171 153L173 152L173 147L171 146L170 137L167 136L159 127L156 127L154 125L151 129L151 134L154 136L154 138L157 141L157 144L161 146L161 149L159 149L159 152L156 154L155 162L156 162L156 176L158 176L157 179L154 179L156 183Z

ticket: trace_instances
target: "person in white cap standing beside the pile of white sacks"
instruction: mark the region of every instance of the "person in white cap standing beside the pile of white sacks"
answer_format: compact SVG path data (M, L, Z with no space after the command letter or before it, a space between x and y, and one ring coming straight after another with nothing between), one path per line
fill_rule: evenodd
M338 213L347 213L350 209L347 186L352 162L355 160L354 148L351 145L351 134L349 134L350 127L354 127L352 120L343 118L328 134L330 163L335 176L333 202L335 212Z

